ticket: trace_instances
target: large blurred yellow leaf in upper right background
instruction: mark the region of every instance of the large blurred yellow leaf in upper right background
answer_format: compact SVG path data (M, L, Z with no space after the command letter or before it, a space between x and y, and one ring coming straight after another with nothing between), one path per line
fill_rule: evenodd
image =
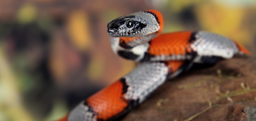
M202 4L195 11L203 29L224 35L239 29L244 16L241 8L214 3Z

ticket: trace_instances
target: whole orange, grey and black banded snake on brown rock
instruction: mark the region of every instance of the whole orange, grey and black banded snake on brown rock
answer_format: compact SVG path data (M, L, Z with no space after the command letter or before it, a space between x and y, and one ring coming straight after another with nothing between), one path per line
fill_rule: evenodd
M146 10L111 20L107 33L113 52L140 62L125 76L83 100L61 121L116 120L144 102L166 80L192 66L214 65L234 55L250 55L242 45L206 31L162 34L163 17Z

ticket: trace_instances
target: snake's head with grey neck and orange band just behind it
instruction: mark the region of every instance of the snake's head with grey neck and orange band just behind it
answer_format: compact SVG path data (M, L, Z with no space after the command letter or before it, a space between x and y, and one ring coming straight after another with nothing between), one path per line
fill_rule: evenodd
M160 34L163 30L163 17L159 11L147 10L121 16L107 25L111 37L139 37L147 34Z

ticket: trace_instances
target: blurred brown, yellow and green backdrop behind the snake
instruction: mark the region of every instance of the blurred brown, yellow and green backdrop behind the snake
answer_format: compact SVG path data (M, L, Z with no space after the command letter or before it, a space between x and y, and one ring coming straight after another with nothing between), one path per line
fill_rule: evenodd
M0 0L0 121L60 119L132 70L107 23L147 9L164 32L206 30L256 54L255 0Z

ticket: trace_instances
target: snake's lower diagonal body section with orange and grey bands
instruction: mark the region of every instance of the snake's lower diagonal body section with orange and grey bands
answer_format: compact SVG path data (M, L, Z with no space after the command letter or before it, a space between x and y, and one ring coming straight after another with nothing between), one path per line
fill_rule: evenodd
M108 120L145 101L165 82L167 74L182 69L184 61L144 62L120 80L80 103L68 115L70 121ZM182 68L181 68L182 67Z

